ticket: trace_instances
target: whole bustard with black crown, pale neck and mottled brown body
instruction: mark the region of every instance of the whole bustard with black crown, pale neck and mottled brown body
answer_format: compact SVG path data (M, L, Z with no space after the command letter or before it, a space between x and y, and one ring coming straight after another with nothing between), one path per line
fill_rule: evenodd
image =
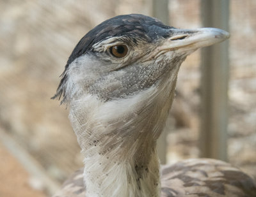
M89 31L54 96L70 108L84 169L55 196L256 196L253 179L222 161L188 159L159 170L156 140L180 64L228 37L221 29L176 29L138 14Z

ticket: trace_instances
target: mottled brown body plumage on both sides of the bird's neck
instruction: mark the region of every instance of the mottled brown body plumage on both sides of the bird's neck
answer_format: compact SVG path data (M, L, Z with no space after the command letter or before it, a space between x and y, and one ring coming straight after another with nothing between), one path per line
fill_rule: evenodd
M162 197L256 197L255 181L238 168L215 159L187 159L162 168ZM83 169L54 197L84 197Z

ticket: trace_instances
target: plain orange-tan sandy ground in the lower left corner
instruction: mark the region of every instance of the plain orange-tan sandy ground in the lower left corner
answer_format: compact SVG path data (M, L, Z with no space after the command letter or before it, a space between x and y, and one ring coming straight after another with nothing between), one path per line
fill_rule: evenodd
M29 174L19 161L0 144L0 196L45 197L42 191L29 186Z

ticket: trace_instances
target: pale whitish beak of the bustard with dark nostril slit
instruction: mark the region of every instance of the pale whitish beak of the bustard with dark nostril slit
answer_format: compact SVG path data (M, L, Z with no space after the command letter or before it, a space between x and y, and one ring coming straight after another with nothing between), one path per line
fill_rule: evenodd
M171 35L163 44L154 50L150 59L154 59L165 52L177 50L177 52L194 51L201 47L207 47L220 43L230 37L227 31L217 28L200 29L171 29Z

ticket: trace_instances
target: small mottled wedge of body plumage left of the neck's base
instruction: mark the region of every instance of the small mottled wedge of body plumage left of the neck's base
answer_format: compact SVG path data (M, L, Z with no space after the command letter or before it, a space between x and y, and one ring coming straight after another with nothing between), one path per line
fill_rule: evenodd
M85 197L83 168L73 173L53 197Z

